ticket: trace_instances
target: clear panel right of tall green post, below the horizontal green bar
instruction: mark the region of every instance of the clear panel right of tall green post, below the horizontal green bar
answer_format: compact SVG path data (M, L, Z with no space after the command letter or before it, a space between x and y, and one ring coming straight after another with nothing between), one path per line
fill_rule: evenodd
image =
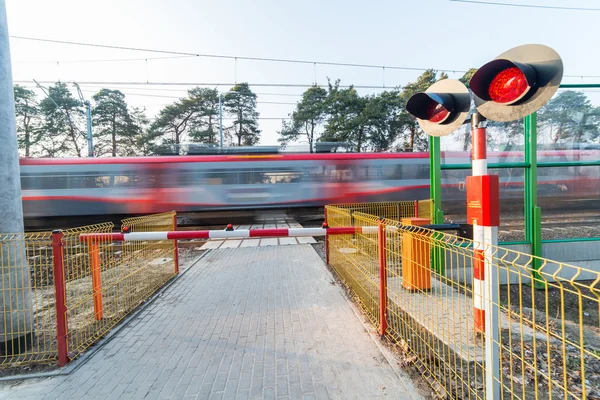
M600 166L539 167L542 239L600 237Z

